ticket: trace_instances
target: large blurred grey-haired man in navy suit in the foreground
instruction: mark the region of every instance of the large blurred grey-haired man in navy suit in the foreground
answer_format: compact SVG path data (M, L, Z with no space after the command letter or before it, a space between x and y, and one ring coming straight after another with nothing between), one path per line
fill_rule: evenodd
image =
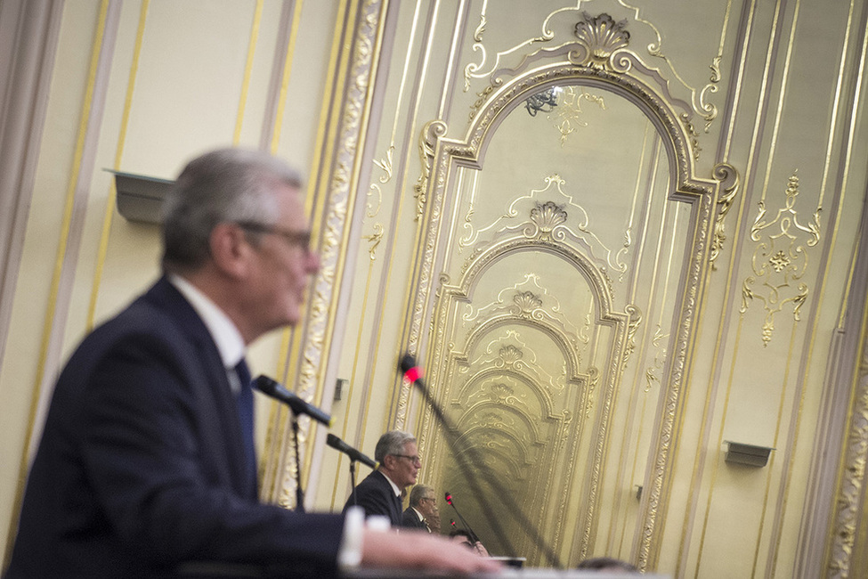
M196 561L285 576L491 568L428 534L366 529L360 513L258 501L244 357L299 321L320 267L310 237L283 161L228 149L187 165L166 200L163 277L85 338L54 387L9 579L165 577Z

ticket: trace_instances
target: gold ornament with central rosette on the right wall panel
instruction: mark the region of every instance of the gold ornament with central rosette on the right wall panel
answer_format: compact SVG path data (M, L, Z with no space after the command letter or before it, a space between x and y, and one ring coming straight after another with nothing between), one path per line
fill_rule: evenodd
M756 241L751 268L753 275L742 281L741 312L747 312L754 298L763 304L766 316L762 325L763 346L768 346L775 331L775 314L783 306L792 304L792 317L799 321L799 310L805 303L808 287L796 285L807 270L807 248L820 241L820 208L816 208L813 220L799 223L793 208L799 195L799 177L791 175L787 183L786 200L778 209L775 218L766 220L766 204L759 202L759 212L750 228L750 239ZM764 237L765 234L765 237ZM757 285L756 289L753 287Z

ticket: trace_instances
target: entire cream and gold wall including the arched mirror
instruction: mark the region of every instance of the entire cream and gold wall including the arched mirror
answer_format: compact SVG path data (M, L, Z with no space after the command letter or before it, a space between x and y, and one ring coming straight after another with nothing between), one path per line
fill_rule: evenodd
M0 312L4 545L63 360L158 275L158 227L118 214L106 169L171 179L238 144L310 175L324 265L254 370L369 455L413 432L420 482L490 550L552 564L531 526L564 566L864 568L864 0L53 10ZM405 352L457 442L398 375ZM257 404L262 496L292 507L289 417ZM305 502L340 510L349 464L302 427ZM773 450L749 467L730 443Z

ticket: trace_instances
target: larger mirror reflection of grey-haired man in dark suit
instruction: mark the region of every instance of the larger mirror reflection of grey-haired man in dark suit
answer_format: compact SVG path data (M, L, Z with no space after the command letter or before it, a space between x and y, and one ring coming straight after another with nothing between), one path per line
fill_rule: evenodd
M377 441L374 460L380 463L379 468L356 485L344 512L358 505L365 510L365 517L385 517L391 526L401 526L402 492L416 482L422 467L416 437L402 430L386 432Z

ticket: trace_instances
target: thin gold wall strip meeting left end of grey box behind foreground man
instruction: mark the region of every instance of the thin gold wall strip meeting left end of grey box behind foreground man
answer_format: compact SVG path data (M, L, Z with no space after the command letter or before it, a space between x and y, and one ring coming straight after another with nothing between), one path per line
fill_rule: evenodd
M139 57L142 54L142 38L144 37L145 22L148 20L148 8L150 0L142 0L142 6L139 11L139 28L135 34L135 45L133 49L133 61L130 63L130 73L126 82L126 97L124 99L124 113L121 118L120 132L118 134L118 147L115 150L116 171L120 170L121 159L124 158L124 144L126 143L126 128L129 126L130 110L133 108L133 93L135 89L135 77L139 70ZM109 197L106 200L105 215L102 217L102 232L100 234L100 246L96 255L96 269L93 273L93 287L91 289L90 304L87 306L87 320L85 329L90 331L93 329L93 319L96 317L96 300L100 295L100 284L102 281L102 270L105 266L106 256L109 253L109 234L111 232L111 221L115 214L115 198L118 192L115 189L115 180L111 180L109 188Z

